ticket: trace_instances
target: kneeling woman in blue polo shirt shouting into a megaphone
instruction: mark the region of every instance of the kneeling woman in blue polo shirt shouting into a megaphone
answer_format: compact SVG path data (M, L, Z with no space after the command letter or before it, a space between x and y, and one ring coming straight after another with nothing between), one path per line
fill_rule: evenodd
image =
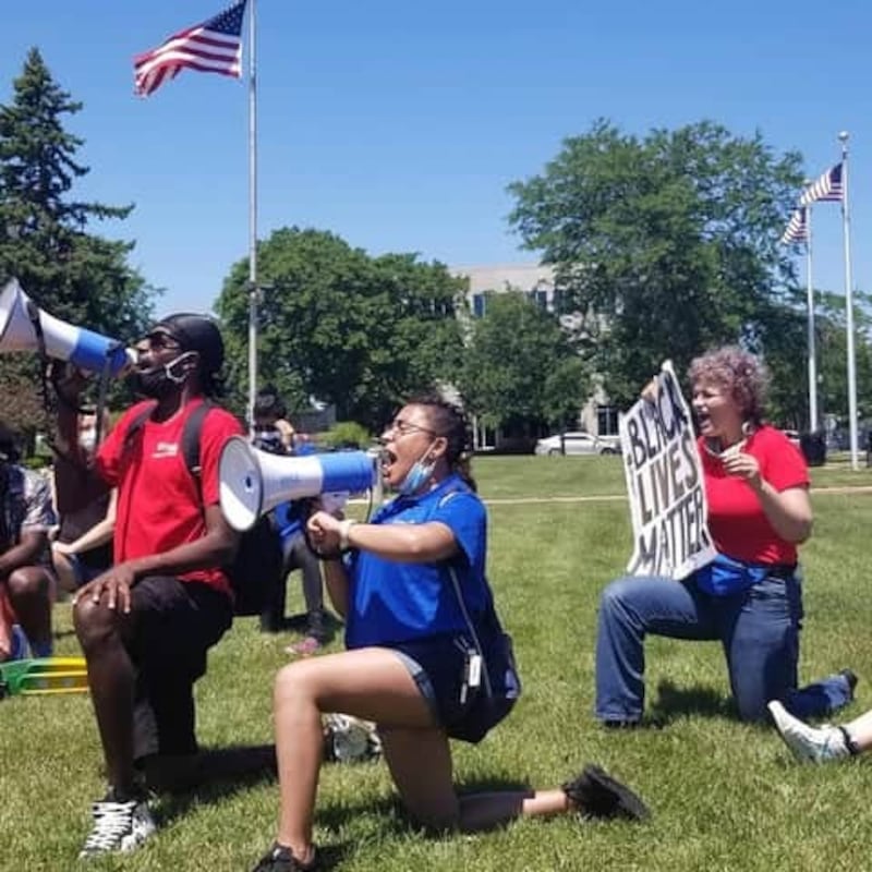
M314 867L324 713L377 723L403 803L434 829L484 829L569 811L647 814L596 766L559 789L455 791L449 737L479 741L511 707L483 714L476 705L502 634L485 579L487 517L467 472L468 434L463 414L439 397L410 401L383 435L382 472L396 499L372 523L326 512L308 521L334 607L347 621L348 651L291 664L276 679L281 814L255 872ZM511 697L520 687L501 690Z

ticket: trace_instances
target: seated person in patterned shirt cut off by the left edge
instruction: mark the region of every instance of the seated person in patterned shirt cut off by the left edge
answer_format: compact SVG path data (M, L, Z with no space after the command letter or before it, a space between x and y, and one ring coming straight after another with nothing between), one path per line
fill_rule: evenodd
M15 435L0 423L0 661L52 652L48 481L19 465Z

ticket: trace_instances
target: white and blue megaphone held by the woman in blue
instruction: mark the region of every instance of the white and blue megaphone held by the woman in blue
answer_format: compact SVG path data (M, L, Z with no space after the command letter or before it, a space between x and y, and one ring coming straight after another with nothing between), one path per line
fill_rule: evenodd
M218 482L227 522L245 532L280 502L368 491L376 482L376 469L365 451L282 457L233 436L221 451Z

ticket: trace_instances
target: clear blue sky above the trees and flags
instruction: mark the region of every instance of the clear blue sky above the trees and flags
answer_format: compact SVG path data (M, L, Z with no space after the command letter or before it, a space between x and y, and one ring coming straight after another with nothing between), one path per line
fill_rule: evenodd
M76 192L134 203L158 313L208 310L249 239L247 90L184 72L133 96L132 58L229 0L29 0L0 28L0 102L37 46L84 109ZM530 262L506 185L605 117L627 132L712 119L797 149L811 177L851 134L853 284L872 256L872 5L862 0L257 0L259 237L291 225L373 255ZM245 59L247 65L247 59ZM814 214L819 286L844 288L837 204Z

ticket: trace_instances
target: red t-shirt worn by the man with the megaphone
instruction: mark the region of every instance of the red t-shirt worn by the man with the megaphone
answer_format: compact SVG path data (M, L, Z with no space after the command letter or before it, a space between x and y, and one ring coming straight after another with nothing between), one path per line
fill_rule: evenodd
M221 449L231 436L242 433L230 412L217 407L209 411L201 433L198 483L184 462L181 441L184 422L202 400L192 400L169 421L146 419L125 445L128 428L149 402L129 409L97 453L100 474L118 487L116 562L162 554L206 534L203 507L218 502ZM179 578L230 592L230 582L219 567L193 569Z

